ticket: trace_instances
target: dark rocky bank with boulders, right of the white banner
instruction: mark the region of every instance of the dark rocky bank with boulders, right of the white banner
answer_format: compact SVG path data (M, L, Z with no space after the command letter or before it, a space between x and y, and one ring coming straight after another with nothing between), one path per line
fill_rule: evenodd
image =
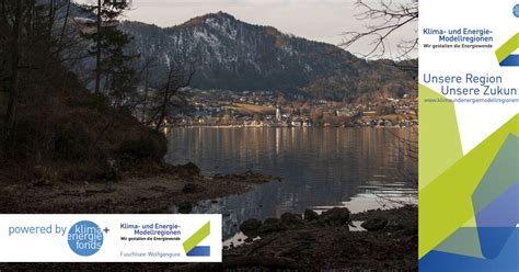
M249 219L240 226L249 238L243 246L226 248L223 263L176 270L417 271L417 222L416 206L361 214L337 207L321 215L305 211ZM261 239L252 239L256 237Z

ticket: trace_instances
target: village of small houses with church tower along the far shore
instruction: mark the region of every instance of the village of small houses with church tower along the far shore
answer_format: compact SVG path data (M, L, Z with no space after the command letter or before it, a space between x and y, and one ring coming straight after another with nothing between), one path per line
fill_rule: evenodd
M418 99L337 102L274 91L185 90L188 106L173 114L170 126L233 127L414 127ZM187 110L187 111L186 111Z

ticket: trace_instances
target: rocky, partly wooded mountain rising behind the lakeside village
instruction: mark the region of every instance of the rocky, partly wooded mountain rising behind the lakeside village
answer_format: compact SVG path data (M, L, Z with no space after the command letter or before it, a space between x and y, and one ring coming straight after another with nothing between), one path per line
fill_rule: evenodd
M141 61L155 59L150 72L154 87L170 65L188 64L196 70L193 87L199 89L305 92L335 100L414 81L413 72L395 68L391 60L359 59L334 45L249 24L223 12L172 27L130 21L120 27L134 36L130 52L140 54Z

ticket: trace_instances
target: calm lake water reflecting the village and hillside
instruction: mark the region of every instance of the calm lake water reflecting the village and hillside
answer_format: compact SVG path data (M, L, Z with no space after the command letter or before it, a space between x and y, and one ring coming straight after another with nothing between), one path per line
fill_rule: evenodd
M397 135L399 137L396 137ZM177 127L169 132L166 160L194 162L204 174L252 170L281 177L281 182L198 203L193 213L223 214L223 237L239 231L249 218L279 217L285 212L347 206L361 212L416 203L416 161L402 138L416 135L401 128L216 128Z

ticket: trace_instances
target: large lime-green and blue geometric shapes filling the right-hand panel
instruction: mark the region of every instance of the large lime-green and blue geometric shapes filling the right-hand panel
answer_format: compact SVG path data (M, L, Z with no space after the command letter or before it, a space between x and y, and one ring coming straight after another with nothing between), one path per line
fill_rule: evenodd
M426 103L439 94L425 86L419 95L420 170L429 167L424 161L438 161L431 163L437 175L419 175L420 271L519 271L519 115L465 156L458 148L430 152L424 145L458 147L455 113L452 103ZM423 118L438 111L449 124L448 136L434 141L445 127Z

